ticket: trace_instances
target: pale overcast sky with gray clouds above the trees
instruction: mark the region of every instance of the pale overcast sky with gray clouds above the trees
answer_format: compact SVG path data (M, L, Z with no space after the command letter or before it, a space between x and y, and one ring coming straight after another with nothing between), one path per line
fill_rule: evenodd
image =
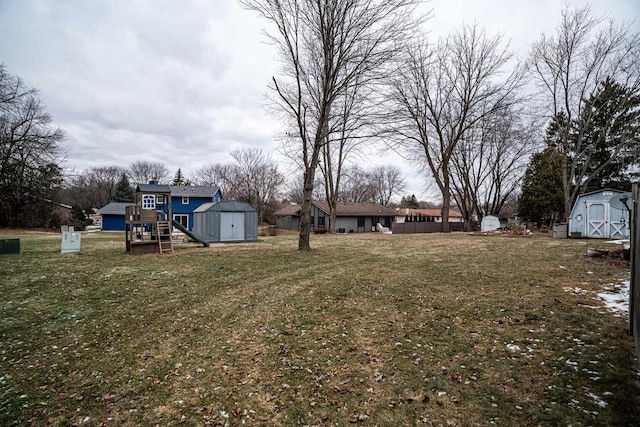
M590 3L619 22L640 15L640 0ZM435 39L477 22L524 56L541 32L553 32L564 5L432 0L425 31ZM66 132L67 169L150 160L172 176L178 167L189 176L204 164L231 161L234 148L260 147L279 158L282 129L265 108L278 64L263 29L268 23L235 0L0 0L0 63L39 89ZM407 194L429 197L424 180L399 158L368 161L382 159L406 171Z

